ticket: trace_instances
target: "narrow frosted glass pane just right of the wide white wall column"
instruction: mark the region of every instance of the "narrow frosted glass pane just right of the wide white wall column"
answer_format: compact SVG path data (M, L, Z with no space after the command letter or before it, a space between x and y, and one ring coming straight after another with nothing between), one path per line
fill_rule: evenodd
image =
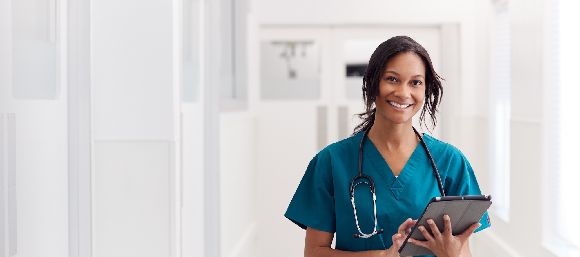
M200 1L183 1L182 100L197 102L200 85Z

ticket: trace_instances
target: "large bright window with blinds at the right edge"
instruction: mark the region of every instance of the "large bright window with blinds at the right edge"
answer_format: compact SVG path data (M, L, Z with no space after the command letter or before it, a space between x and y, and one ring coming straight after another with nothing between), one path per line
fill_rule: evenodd
M580 208L580 138L578 127L578 95L580 83L580 50L578 49L578 24L580 16L578 1L559 1L556 8L556 189L555 192L555 247L560 256L580 256L580 223L577 220Z

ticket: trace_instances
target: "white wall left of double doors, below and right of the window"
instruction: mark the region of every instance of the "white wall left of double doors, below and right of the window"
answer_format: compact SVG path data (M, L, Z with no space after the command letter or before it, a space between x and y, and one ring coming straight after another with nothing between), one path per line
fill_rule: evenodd
M255 102L259 90L255 73L259 69L255 65L259 47L253 44L258 30L251 11L247 24L248 107L222 112L219 116L220 255L227 257L259 256L260 249Z

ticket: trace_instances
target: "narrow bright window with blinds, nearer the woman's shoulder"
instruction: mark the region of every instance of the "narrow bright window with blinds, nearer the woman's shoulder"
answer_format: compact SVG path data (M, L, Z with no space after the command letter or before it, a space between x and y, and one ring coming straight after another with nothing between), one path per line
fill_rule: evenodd
M509 10L495 13L490 42L490 185L492 210L506 222L510 206L510 23Z

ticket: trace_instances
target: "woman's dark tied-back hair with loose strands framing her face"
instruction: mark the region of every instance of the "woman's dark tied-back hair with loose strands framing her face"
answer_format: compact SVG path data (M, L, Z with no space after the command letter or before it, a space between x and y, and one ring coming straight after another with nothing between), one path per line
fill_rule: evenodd
M423 105L423 109L421 110L419 124L423 123L427 127L425 113L429 112L433 128L435 128L437 124L437 105L441 102L441 97L443 96L443 87L441 86L441 80L443 78L433 69L433 63L431 63L429 53L427 53L422 45L406 35L398 35L397 37L391 37L389 40L382 42L371 55L367 69L364 72L364 77L362 77L362 97L364 98L366 109L365 112L357 114L363 121L354 128L353 135L367 130L375 122L376 108L373 108L373 105L376 96L379 94L379 81L383 66L385 66L387 60L391 57L403 52L415 53L425 64L425 105Z

